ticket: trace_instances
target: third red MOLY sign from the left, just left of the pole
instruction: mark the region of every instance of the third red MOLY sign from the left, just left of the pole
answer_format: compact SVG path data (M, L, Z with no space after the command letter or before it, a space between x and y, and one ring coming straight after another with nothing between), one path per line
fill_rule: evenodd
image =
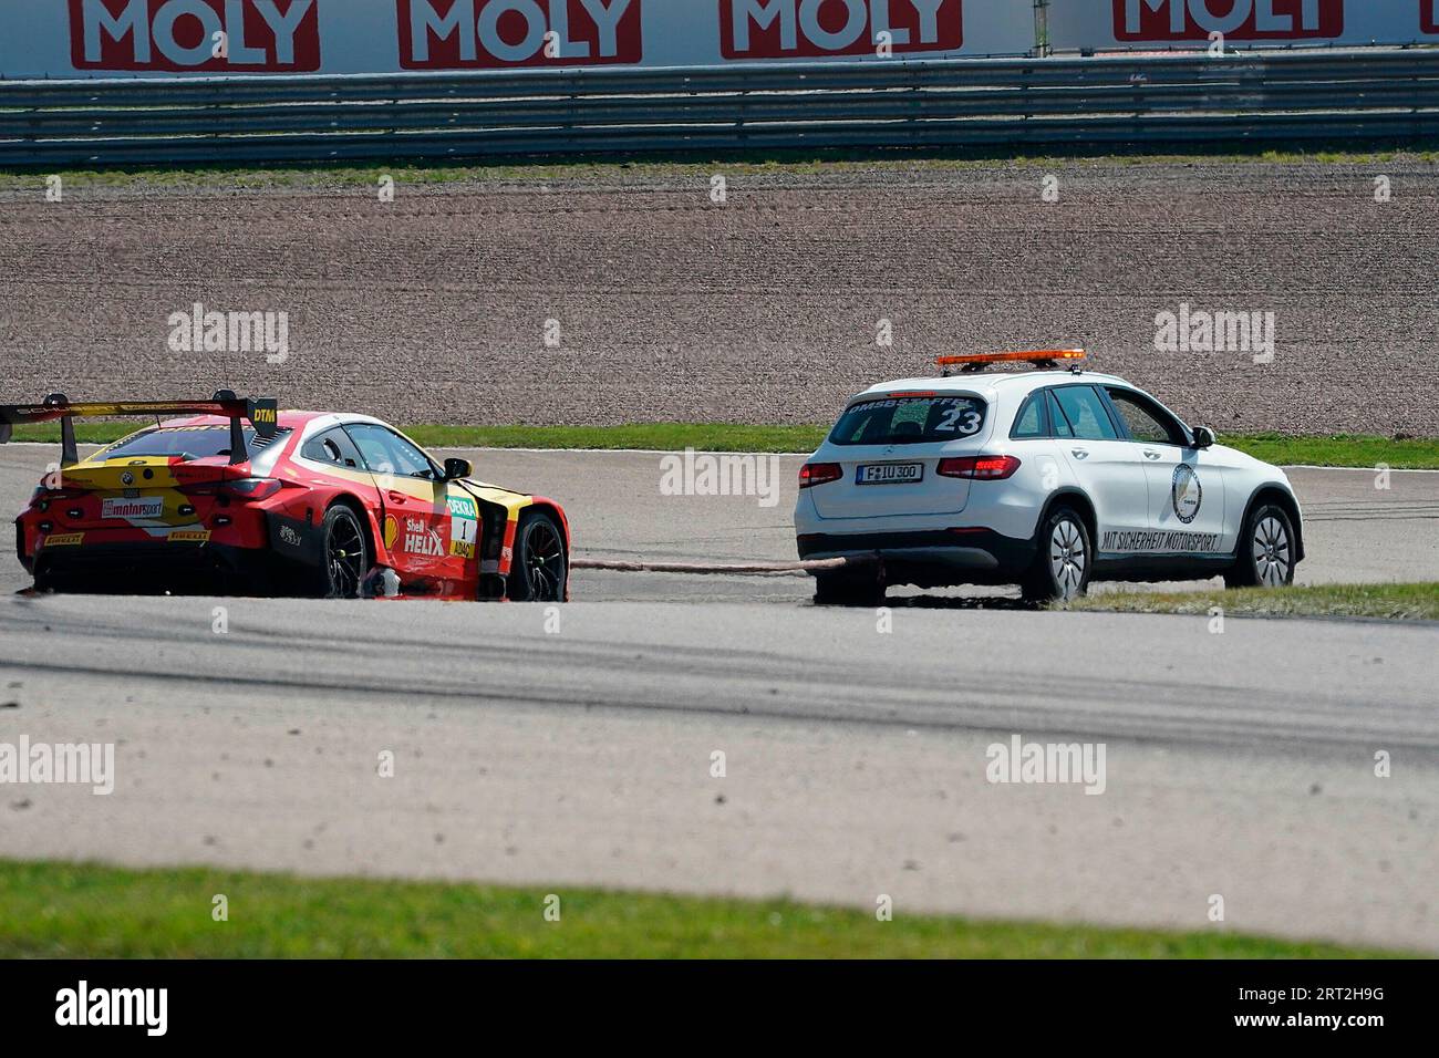
M720 0L725 59L951 52L964 0Z

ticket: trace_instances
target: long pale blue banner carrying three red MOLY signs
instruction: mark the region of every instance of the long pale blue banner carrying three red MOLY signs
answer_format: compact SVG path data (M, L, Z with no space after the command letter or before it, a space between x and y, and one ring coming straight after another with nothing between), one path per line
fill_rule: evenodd
M1016 56L1030 0L4 0L0 76Z

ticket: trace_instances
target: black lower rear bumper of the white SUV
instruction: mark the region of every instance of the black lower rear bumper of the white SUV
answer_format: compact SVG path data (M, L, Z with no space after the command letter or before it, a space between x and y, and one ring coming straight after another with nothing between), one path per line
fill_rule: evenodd
M994 530L812 533L797 543L802 560L878 557L886 583L917 587L1013 584L1035 561L1033 540Z

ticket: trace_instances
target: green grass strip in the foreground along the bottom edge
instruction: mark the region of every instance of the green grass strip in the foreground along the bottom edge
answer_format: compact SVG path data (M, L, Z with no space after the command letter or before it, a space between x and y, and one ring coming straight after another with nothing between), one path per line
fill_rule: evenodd
M544 917L560 897L560 921ZM227 900L227 921L212 917ZM0 862L0 957L1348 959L1236 933L911 915L786 900Z

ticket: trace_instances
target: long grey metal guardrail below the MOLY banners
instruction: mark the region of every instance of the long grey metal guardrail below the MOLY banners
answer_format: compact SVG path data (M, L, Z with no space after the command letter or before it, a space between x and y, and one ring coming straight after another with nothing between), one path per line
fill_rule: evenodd
M0 167L1436 134L1435 50L0 82Z

